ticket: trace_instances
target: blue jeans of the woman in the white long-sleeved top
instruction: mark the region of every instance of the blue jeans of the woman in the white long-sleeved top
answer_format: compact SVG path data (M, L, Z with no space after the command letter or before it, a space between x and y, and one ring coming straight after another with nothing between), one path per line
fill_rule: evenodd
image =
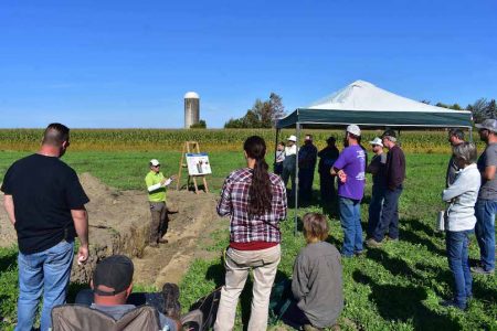
M472 293L472 271L469 270L468 243L473 231L447 231L445 242L447 246L448 267L454 275L454 302L461 309L466 308L467 298Z

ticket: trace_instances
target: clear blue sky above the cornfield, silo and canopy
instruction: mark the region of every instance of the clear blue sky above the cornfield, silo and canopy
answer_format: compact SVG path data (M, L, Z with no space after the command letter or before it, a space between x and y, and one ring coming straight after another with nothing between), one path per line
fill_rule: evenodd
M497 1L3 1L0 127L222 127L356 81L413 99L497 98Z

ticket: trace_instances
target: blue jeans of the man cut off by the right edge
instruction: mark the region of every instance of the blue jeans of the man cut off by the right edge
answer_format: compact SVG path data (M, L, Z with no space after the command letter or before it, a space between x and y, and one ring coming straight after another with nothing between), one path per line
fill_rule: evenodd
M495 214L497 201L478 199L475 205L475 235L483 268L495 270Z

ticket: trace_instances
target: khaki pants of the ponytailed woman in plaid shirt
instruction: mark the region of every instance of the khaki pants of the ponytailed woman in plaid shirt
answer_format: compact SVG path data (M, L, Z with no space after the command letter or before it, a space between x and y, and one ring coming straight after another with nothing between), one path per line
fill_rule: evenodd
M228 249L224 261L226 279L221 289L214 330L233 330L236 305L251 268L254 273L254 287L248 331L266 330L271 289L279 258L279 245L261 250Z

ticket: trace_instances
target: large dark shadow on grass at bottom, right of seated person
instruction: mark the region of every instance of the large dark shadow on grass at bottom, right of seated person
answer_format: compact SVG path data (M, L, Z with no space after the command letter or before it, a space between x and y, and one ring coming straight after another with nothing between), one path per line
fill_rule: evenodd
M426 290L410 286L379 285L370 276L356 270L355 281L370 286L369 300L374 302L384 320L412 322L415 330L461 330L461 325L447 316L438 314L423 305Z

